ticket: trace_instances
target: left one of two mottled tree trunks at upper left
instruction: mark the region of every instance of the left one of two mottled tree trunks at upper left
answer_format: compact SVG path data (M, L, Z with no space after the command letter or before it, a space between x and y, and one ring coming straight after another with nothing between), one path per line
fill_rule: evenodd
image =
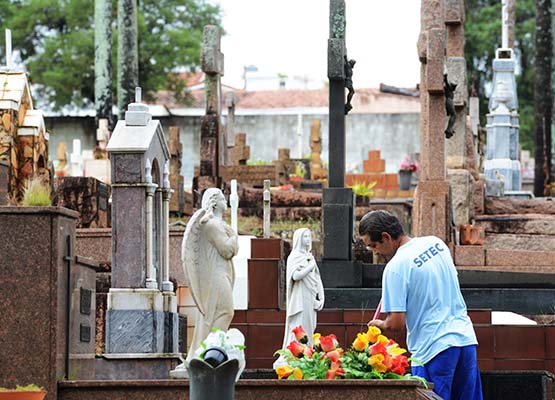
M99 124L100 119L108 120L108 129L113 127L111 16L112 2L110 0L94 2L94 104Z

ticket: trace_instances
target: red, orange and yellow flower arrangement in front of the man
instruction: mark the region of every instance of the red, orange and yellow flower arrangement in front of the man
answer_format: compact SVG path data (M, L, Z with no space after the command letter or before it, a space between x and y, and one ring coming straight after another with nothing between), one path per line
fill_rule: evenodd
M416 379L426 385L424 379L405 373L410 360L404 355L407 351L377 327L357 334L346 351L333 334L315 333L310 347L301 326L293 333L295 340L287 349L276 351L287 361L275 370L279 379Z

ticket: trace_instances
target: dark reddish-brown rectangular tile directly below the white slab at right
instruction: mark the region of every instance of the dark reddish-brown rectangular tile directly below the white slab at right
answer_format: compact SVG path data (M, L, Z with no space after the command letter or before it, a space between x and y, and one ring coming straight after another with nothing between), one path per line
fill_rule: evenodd
M496 359L545 358L545 329L543 326L497 325L494 329Z

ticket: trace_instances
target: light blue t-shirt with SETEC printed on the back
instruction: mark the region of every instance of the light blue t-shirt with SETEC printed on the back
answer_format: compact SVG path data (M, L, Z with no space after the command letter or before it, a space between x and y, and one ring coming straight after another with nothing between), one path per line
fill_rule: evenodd
M405 312L412 357L427 363L449 347L478 344L449 248L435 236L397 249L382 278L382 311Z

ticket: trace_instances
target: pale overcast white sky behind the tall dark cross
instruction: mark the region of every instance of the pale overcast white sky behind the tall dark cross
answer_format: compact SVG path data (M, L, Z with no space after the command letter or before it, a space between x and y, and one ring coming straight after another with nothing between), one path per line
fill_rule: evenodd
M212 0L223 9L223 82L241 88L243 66L258 74L327 80L328 0ZM346 0L347 53L355 87L420 80L418 0Z

